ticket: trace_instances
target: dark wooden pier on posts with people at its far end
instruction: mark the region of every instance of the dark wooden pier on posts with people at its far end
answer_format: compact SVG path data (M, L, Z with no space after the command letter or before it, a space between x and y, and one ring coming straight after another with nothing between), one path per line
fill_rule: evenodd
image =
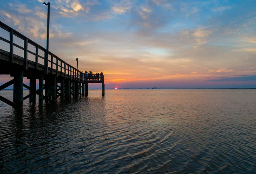
M103 74L84 75L50 51L47 60L45 58L47 50L44 47L1 21L0 27L9 32L9 40L0 37L0 42L9 43L9 52L0 49L0 74L9 74L13 77L12 80L0 86L1 91L13 84L13 101L0 96L1 101L23 111L23 101L29 99L29 102L35 106L36 95L39 96L39 106L43 105L43 100L54 103L58 97L61 100L69 100L71 97L88 96L88 83L102 83L102 96L105 95ZM14 43L14 36L23 40L23 47ZM34 47L35 50L29 50L29 46ZM14 48L22 50L24 56L15 55ZM39 54L40 50L43 51L44 56ZM35 56L35 61L28 60L28 53ZM44 62L44 64L38 62ZM23 77L29 79L29 86L23 83ZM37 79L38 90L36 90ZM29 89L29 95L23 96L23 87Z

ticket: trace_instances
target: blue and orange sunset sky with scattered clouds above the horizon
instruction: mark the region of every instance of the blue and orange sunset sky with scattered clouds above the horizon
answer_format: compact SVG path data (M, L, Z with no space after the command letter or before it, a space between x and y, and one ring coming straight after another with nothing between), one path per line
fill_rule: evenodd
M46 47L43 2L2 0L0 19ZM50 3L49 51L103 72L105 88L256 88L256 0ZM0 36L9 39L3 29Z

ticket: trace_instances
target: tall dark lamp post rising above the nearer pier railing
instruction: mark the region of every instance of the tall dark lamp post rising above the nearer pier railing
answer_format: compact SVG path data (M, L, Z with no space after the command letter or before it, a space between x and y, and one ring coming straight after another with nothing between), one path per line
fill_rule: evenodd
M44 53L44 73L48 73L48 56L49 56L49 28L50 28L50 3L43 3L48 6L47 13L47 39L46 39L46 52Z

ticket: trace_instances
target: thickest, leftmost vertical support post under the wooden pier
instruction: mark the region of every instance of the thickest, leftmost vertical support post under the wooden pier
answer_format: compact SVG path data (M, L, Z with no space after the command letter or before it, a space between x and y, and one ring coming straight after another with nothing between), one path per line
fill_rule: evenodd
M23 71L17 72L13 79L13 103L18 105L19 111L23 111Z

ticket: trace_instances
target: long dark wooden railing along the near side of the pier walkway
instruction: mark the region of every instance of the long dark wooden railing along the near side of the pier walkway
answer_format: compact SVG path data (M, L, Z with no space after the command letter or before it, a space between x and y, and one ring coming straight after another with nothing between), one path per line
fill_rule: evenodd
M82 72L76 69L75 67L69 65L66 63L64 60L53 54L52 52L49 51L49 56L50 60L45 58L47 56L46 53L46 48L38 45L34 41L30 40L28 37L24 36L20 32L16 31L15 29L12 29L11 27L7 26L5 23L0 21L0 27L6 31L9 32L9 40L6 40L3 37L0 37L0 40L3 40L6 43L9 43L10 46L10 62L13 62L14 60L14 47L20 48L24 52L24 70L28 69L28 53L35 55L35 69L38 68L38 59L41 58L44 60L44 69L47 70L45 73L48 73L48 68L50 69L50 73L53 72L53 70L56 70L56 77L58 77L58 72L60 72L61 76L64 76L65 78L71 78L74 80L84 80L83 76L81 75ZM16 43L14 43L13 37L16 36L24 41L24 46L19 46ZM35 47L35 52L28 50L28 44L31 44L32 46ZM44 57L38 54L38 51L41 50L44 52ZM56 62L56 63L55 63ZM53 68L55 66L56 68ZM96 75L96 74L93 74ZM103 77L103 75L102 75Z

